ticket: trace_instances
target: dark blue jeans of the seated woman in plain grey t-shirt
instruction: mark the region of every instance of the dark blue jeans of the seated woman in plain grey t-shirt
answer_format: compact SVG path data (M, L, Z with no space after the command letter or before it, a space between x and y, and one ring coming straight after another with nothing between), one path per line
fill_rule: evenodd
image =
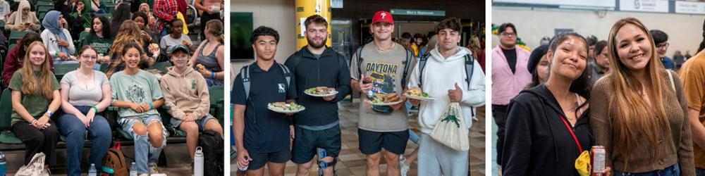
M83 114L88 113L91 106L74 106ZM102 168L103 156L110 147L110 142L113 139L112 132L108 120L105 120L102 115L96 114L93 122L89 123L86 129L83 122L75 115L63 113L56 125L59 125L59 132L66 136L66 158L68 158L67 175L81 175L81 154L83 153L83 144L86 133L92 141L90 148L89 161L95 164L95 168ZM90 164L89 163L89 164ZM99 169L100 170L100 169Z

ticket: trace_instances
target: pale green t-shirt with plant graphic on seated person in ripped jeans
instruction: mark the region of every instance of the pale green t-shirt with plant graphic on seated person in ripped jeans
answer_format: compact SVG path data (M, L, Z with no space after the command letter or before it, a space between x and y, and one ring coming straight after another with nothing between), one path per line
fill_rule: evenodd
M161 99L161 87L157 82L157 77L145 70L139 70L135 75L125 74L120 71L110 77L110 92L113 101L130 101L133 103L149 103ZM137 113L130 108L120 108L118 115L121 118L137 116L146 117L149 115L159 115L157 109L152 109L143 113Z

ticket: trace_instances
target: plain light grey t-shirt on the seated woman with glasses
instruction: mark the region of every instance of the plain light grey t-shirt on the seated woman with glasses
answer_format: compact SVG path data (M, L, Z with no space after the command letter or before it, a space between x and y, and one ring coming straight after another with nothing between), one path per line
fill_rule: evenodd
M105 73L93 70L93 85L88 89L78 82L78 70L73 70L61 78L62 85L68 89L68 103L73 106L95 106L103 99L103 85L110 84Z

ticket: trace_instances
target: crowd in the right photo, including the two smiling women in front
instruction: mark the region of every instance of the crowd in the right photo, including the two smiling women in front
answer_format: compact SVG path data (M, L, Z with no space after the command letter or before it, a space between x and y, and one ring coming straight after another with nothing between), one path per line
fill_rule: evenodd
M705 29L705 28L704 28ZM668 35L636 18L607 41L557 34L529 51L517 28L498 28L493 113L503 175L703 175L702 49L677 67ZM678 70L678 73L675 72ZM578 167L592 146L605 168Z

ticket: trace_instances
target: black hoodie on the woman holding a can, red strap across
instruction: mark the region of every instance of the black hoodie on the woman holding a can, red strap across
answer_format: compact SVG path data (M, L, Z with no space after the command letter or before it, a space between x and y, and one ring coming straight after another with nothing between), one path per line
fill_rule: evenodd
M506 175L578 175L575 139L560 118L565 114L544 84L522 91L509 103L502 158ZM570 122L569 122L570 124ZM594 143L589 110L572 127L583 150Z

